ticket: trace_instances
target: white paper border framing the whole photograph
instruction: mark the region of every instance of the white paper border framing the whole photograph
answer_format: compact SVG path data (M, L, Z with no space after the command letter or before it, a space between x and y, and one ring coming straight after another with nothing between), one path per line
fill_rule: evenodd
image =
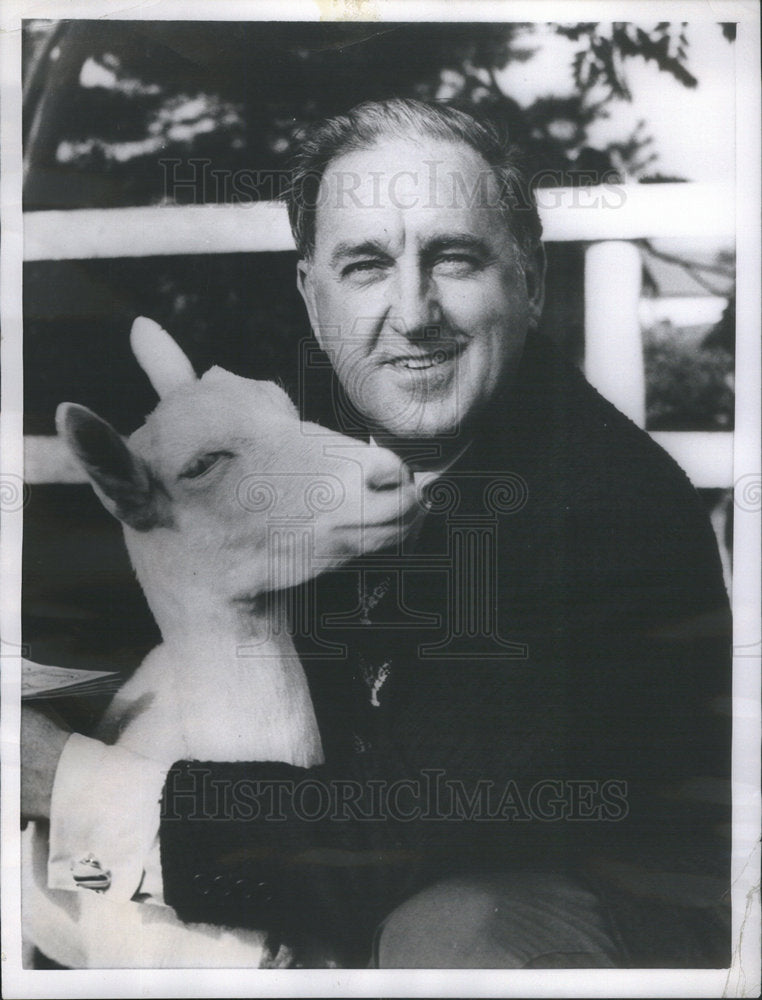
M760 974L760 87L759 9L739 0L5 0L0 13L2 128L2 975L4 996L757 996ZM736 239L738 260L734 482L756 499L736 504L734 540L733 964L730 969L97 970L21 968L19 878L20 581L23 495L21 22L114 20L583 21L738 23L736 39ZM754 492L756 491L756 492ZM753 509L748 509L749 507Z

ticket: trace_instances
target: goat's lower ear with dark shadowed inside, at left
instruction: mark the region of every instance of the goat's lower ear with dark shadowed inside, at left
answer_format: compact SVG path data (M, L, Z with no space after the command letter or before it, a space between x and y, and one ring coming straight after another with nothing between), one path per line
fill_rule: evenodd
M139 531L157 523L148 468L111 424L86 406L62 403L56 410L56 428L110 514Z

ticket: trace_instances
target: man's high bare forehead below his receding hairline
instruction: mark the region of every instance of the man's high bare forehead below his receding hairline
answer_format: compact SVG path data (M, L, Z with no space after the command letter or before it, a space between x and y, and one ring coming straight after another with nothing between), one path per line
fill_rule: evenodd
M400 226L422 232L502 229L499 185L487 161L465 143L390 136L333 160L323 175L316 251L347 236L362 239Z

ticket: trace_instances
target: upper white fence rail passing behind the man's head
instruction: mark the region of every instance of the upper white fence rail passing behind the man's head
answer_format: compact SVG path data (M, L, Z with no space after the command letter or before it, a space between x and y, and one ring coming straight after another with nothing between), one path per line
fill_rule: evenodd
M540 188L550 243L732 237L732 190L719 184ZM293 250L285 205L251 202L28 212L25 260Z

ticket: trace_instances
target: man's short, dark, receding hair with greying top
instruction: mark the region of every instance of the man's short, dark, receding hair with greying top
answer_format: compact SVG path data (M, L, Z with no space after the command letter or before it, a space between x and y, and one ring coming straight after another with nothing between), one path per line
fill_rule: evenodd
M498 182L499 208L526 260L539 245L542 223L522 151L492 122L446 104L408 98L366 101L305 131L285 193L291 232L301 256L309 259L315 249L318 190L328 165L345 153L376 145L379 139L409 135L464 143L480 154Z

